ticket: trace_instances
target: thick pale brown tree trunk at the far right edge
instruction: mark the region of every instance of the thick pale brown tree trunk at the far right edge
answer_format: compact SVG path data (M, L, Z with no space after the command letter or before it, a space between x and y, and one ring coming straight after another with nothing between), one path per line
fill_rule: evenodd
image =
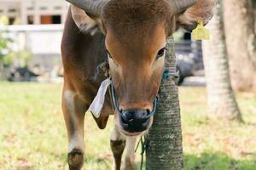
M256 36L252 0L224 0L230 76L236 90L256 90Z

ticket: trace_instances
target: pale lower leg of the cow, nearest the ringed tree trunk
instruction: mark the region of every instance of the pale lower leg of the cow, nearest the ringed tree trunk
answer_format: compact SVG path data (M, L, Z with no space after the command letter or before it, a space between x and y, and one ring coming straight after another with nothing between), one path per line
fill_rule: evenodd
M126 137L126 154L125 154L125 166L123 170L133 170L134 158L135 158L135 146L137 137Z

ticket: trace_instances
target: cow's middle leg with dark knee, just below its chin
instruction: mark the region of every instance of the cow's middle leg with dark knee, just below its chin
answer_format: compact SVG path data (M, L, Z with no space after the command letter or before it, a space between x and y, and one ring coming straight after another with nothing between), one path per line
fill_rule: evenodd
M117 127L113 128L110 137L110 146L113 152L113 170L119 170L121 167L122 155L125 150L125 139L119 133Z

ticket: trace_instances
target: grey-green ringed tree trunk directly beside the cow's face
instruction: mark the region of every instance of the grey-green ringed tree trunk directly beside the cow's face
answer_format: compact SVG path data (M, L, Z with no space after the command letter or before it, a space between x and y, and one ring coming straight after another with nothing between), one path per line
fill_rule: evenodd
M165 68L176 72L173 38L168 38ZM173 78L162 81L160 101L148 133L146 169L183 169L183 146L177 86Z

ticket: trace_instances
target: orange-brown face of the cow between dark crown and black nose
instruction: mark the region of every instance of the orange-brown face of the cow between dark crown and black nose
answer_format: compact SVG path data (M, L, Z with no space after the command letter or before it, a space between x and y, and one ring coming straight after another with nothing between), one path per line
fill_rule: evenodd
M129 33L118 35L108 30L106 37L106 48L113 58L109 62L116 98L122 110L151 111L164 67L164 58L156 60L155 56L165 47L165 29L160 25L145 29L143 34L136 28Z

